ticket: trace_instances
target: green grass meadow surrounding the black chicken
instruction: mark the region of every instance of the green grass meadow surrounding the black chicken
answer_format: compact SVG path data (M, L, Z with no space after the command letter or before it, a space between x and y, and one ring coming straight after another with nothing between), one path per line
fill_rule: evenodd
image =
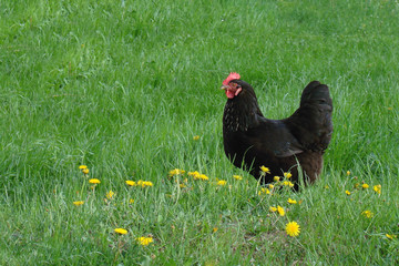
M0 264L398 265L398 14L393 0L1 0ZM267 194L228 162L231 71L270 119L329 85L315 185Z

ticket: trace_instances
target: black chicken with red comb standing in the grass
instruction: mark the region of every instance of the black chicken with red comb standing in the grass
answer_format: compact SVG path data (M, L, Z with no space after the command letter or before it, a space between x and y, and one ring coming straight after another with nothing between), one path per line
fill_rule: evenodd
M323 154L332 133L332 101L328 86L318 81L304 90L299 109L284 120L262 114L254 89L231 73L222 88L228 98L223 114L223 141L227 157L262 184L290 172L298 188L298 163L305 184L320 174ZM270 173L260 172L260 166Z

